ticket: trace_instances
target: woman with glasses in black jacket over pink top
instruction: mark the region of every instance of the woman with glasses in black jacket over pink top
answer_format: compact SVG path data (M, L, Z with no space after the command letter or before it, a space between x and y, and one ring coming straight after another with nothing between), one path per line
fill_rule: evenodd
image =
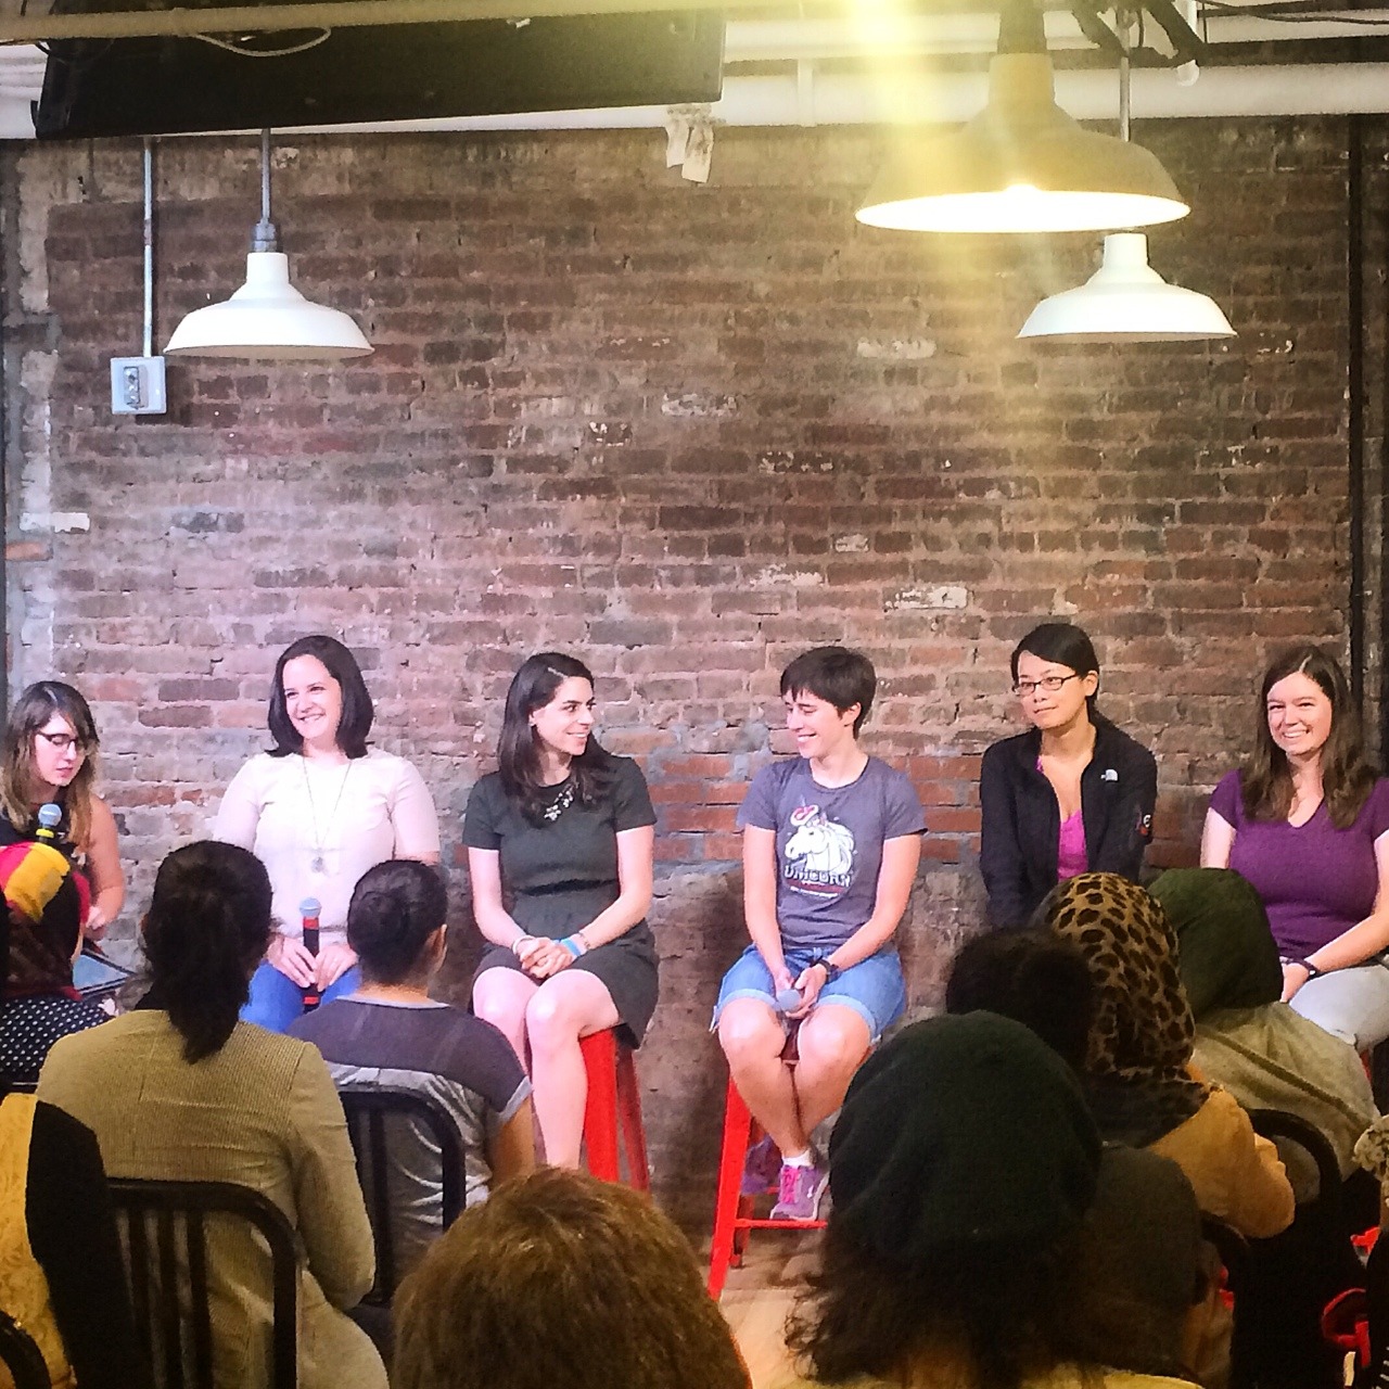
M1011 664L1032 728L995 743L979 770L979 870L996 926L1026 925L1082 872L1136 882L1157 799L1153 754L1095 707L1100 663L1081 628L1043 622Z

